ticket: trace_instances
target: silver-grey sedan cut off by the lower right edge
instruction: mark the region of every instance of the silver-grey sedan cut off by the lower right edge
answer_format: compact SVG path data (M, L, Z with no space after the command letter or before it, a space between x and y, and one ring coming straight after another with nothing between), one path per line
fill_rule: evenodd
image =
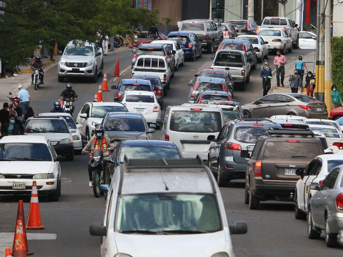
M325 231L328 247L337 245L337 234L343 229L343 165L335 167L319 186L311 183L310 189L317 190L311 197L307 215L308 237L318 239Z

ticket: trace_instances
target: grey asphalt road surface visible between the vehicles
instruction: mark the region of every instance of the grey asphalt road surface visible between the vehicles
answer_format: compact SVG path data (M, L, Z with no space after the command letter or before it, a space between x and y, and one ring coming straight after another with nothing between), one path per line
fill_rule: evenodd
M288 60L304 55L309 50L294 50L287 53ZM120 59L121 70L131 64L132 53L125 50L105 57L105 70L109 71L108 81L112 79L113 65ZM272 56L269 62L272 62ZM187 101L189 87L187 83L199 70L208 68L211 63L210 54L203 54L196 62L186 62L184 67L175 73L171 82L165 106L179 105ZM112 69L111 69L112 68ZM110 70L111 69L111 70ZM129 70L128 70L129 71ZM45 85L31 94L31 106L35 113L49 111L53 102L57 100L65 83L57 82L57 66L48 70L45 76ZM256 100L262 96L259 65L252 71L250 83L246 91L235 91L234 96L242 104ZM130 71L123 73L121 78L130 77ZM118 80L109 85L118 84ZM75 103L75 113L79 112L83 103L93 100L98 83L90 83L86 79L69 79L79 94L79 101ZM113 99L111 91L104 93L104 99ZM159 139L160 132L153 135ZM92 189L87 186L87 157L75 156L72 162L62 162L62 195L58 202L50 203L44 196L39 197L40 214L44 230L28 231L30 233L49 233L49 240L39 240L41 235L30 235L29 249L35 252L34 256L98 256L100 238L89 234L91 222L100 222L104 216L105 200L103 197L95 198ZM233 235L233 245L236 256L337 256L340 249L330 249L321 240L309 240L306 234L306 221L295 220L293 205L290 203L265 202L261 210L249 210L243 203L244 181L229 183L229 187L221 188L227 217L229 220L244 220L248 223L248 234ZM16 217L17 201L24 199L24 211L27 221L29 196L0 196L0 255L4 247L10 247L2 236L3 232L13 232ZM3 233L3 234L2 234ZM56 240L51 234L57 234ZM8 241L8 240L7 240Z

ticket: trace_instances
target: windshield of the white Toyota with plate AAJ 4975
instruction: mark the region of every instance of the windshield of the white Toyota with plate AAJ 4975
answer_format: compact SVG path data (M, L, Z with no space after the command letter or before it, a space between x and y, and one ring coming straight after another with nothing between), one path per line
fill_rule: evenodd
M0 159L20 161L52 161L50 151L42 143L2 143Z

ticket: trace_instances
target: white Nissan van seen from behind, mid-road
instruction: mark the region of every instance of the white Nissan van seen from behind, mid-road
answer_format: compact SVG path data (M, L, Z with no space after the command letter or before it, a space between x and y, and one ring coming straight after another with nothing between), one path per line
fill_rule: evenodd
M225 124L223 111L216 105L184 103L168 106L164 115L161 140L172 141L185 158L197 155L207 162L210 135L218 136Z

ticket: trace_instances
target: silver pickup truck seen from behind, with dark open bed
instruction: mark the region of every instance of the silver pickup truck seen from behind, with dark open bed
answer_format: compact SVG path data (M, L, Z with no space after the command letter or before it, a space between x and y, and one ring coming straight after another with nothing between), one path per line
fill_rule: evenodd
M215 56L211 56L213 62L211 70L227 70L235 81L239 82L239 90L245 90L245 84L250 82L250 66L252 60L248 60L247 54L240 50L219 50Z

